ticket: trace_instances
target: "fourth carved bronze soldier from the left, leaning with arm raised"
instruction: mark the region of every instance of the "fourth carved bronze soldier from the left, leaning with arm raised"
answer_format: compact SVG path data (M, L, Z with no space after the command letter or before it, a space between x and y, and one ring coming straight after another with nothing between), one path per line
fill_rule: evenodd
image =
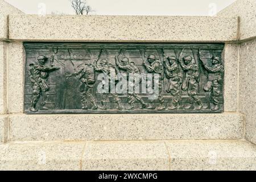
M144 101L142 100L141 97L139 97L136 93L135 93L135 86L139 86L139 82L141 82L141 71L139 71L139 68L133 63L130 62L129 59L127 57L124 57L121 60L121 63L119 62L118 56L115 56L115 63L117 64L118 68L125 70L128 75L129 74L133 74L133 78L135 81L135 84L133 86L133 93L129 93L128 92L128 104L130 105L130 107L128 108L128 110L134 110L134 101L137 100L141 103L142 105L142 109L144 109L147 105L144 103ZM127 80L127 87L129 86L129 80Z

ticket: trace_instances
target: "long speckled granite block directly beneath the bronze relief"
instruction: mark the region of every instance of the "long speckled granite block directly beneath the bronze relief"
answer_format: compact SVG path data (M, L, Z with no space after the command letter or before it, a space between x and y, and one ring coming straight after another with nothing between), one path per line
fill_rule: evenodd
M222 114L63 114L9 117L15 140L240 139L243 117Z

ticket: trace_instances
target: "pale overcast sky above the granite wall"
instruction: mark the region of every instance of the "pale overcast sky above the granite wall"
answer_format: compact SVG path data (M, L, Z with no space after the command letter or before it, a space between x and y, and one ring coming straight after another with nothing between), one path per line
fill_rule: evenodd
M5 0L26 14L74 14L70 0ZM236 0L87 0L97 15L213 15Z

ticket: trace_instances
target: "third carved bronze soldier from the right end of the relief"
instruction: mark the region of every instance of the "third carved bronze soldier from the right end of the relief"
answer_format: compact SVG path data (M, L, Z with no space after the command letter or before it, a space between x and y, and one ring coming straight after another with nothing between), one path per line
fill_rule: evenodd
M168 61L167 61L168 60ZM177 63L175 56L167 57L164 59L164 67L166 68L166 77L169 79L166 92L174 96L174 104L168 107L169 110L178 109L180 104L180 85L182 83L183 70Z

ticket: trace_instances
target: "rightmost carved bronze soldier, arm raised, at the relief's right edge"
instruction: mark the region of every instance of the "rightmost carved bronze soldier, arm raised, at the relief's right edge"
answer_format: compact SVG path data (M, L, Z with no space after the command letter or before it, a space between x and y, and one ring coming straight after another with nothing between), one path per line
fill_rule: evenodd
M200 55L200 52L199 52ZM200 58L201 60L201 58ZM205 92L208 92L212 96L212 110L218 110L220 104L220 93L222 90L222 76L224 73L224 67L220 62L220 57L212 57L212 66L204 65L204 68L209 72L208 73L208 82L204 85Z

